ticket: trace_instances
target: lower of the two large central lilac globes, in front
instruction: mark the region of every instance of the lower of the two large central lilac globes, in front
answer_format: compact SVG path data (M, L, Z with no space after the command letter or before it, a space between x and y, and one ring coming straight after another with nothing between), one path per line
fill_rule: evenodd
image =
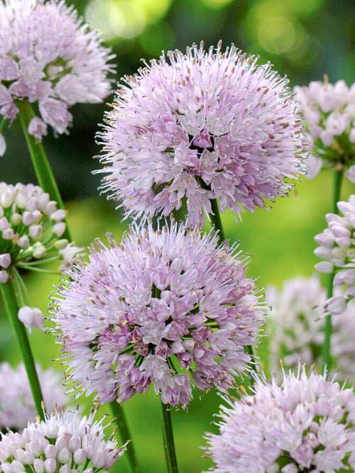
M73 266L54 301L69 379L103 403L151 383L174 406L189 403L191 384L229 389L263 321L245 256L176 224L133 228L119 246L109 239Z

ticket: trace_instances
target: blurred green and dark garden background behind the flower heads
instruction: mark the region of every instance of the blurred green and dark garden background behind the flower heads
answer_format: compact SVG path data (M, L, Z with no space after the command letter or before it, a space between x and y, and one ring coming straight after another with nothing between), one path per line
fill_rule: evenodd
M70 2L68 2L70 3ZM72 2L93 28L102 31L104 40L116 53L116 81L133 74L161 50L200 43L224 46L234 43L250 54L260 55L259 63L271 61L281 75L287 74L291 87L322 79L329 82L355 77L355 3L353 0L76 0ZM109 97L107 101L111 101ZM60 191L69 209L68 220L77 245L90 245L94 238L105 240L114 233L117 240L126 228L114 205L99 196L99 176L91 174L99 167L92 157L99 154L94 135L102 123L106 104L78 105L70 135L44 140ZM31 160L18 123L4 130L8 150L1 158L1 180L13 183L35 182ZM280 284L296 275L310 276L317 258L313 255L314 235L324 229L324 213L330 206L332 176L323 172L314 181L297 182L295 192L279 199L271 211L244 212L236 223L231 214L224 216L226 236L240 240L244 251L253 255L249 276L258 278L260 286ZM354 184L346 182L343 199ZM58 277L31 274L28 284L33 305L45 311L48 296ZM53 365L59 356L51 335L36 333L31 339L35 357L44 367ZM265 338L267 345L267 337ZM261 347L264 356L265 348ZM13 335L1 313L0 356L13 365L20 354ZM62 369L55 362L58 369ZM267 367L267 364L265 365ZM84 398L80 402L85 401ZM85 401L89 405L90 400ZM221 402L209 393L190 405L188 413L173 412L175 442L180 472L208 469L211 462L202 459L200 445L212 425ZM158 399L149 392L136 395L125 405L133 440L144 472L164 472L165 462L160 435ZM103 406L101 412L108 412ZM112 471L128 472L124 459Z

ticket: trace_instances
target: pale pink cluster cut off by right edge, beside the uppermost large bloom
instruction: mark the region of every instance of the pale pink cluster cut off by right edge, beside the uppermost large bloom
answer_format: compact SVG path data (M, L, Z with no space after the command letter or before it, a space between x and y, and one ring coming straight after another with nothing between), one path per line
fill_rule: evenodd
M344 80L329 84L310 82L295 87L295 98L305 121L310 155L305 160L306 176L313 179L323 166L346 169L355 182L355 84Z

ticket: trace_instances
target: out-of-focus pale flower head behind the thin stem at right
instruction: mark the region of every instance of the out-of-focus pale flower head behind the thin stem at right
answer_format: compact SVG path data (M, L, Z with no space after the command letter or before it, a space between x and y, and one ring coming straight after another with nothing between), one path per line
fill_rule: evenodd
M266 289L266 300L271 304L269 341L270 369L280 372L280 360L286 367L297 368L297 363L322 367L324 342L323 305L327 291L318 277L297 277L286 281L280 291L274 286ZM330 353L337 367L337 379L355 380L355 303L332 318Z

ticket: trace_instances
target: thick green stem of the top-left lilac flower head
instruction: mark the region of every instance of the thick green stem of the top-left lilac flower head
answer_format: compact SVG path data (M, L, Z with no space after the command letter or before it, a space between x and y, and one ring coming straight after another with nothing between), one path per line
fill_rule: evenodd
M31 107L31 104L28 102L28 100L17 101L16 105L20 111L18 115L20 116L23 134L26 138L28 152L31 155L33 169L35 170L35 177L37 177L38 184L45 192L48 192L50 199L58 202L58 208L64 208L62 197L60 196L60 191L58 189L57 183L55 182L55 177L52 168L50 167L48 157L45 154L43 144L28 133L28 125L35 116L33 108ZM67 238L67 240L70 241L72 240L70 238L70 233L67 226L62 238Z

